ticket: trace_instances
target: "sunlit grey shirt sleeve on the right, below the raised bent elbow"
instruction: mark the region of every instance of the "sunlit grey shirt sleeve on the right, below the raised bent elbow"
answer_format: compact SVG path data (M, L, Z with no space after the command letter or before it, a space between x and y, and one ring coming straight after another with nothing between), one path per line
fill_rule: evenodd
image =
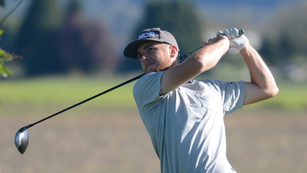
M245 85L243 81L225 82L210 80L210 82L212 82L220 92L225 114L242 108L245 96Z

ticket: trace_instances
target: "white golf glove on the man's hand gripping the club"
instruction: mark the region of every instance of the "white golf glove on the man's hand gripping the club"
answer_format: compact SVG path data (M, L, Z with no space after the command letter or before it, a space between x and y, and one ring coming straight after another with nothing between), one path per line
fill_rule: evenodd
M237 28L226 29L224 32L218 31L216 36L218 35L225 35L229 39L229 47L235 47L239 51L241 51L243 46L249 42L245 35L239 36Z

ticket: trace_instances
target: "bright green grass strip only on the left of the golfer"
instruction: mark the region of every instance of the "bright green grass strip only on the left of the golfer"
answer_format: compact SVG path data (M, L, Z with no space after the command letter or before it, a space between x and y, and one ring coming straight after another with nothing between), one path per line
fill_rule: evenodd
M49 77L18 81L3 81L0 100L10 103L33 103L38 105L66 105L69 107L135 76L126 79L98 79ZM82 105L83 107L131 107L134 106L132 88L134 82L126 84L115 91L104 94Z

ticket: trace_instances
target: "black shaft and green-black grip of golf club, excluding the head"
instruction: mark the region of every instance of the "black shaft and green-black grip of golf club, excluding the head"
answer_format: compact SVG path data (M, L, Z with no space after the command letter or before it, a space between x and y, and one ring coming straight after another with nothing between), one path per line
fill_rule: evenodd
M239 36L241 36L241 35L243 35L243 34L244 34L243 29L240 29L240 30L239 30ZM202 48L202 47L201 47L201 48ZM200 50L201 48L198 48L198 49L196 49L196 50L194 50L194 51L192 51L192 52L190 52L190 53L187 53L187 54L185 54L185 55L179 57L179 62L180 62L180 63L183 62L187 57L189 57L190 55L192 55L192 54L193 54L194 52L196 52L197 50ZM42 121L45 121L45 120L47 120L47 119L49 119L49 118L51 118L51 117L53 117L53 116L56 116L56 115L58 115L58 114L60 114L60 113L63 113L63 112L65 112L65 111L69 110L69 109L72 109L72 108L74 108L74 107L76 107L76 106L78 106L78 105L81 105L81 104L83 104L83 103L85 103L85 102L87 102L87 101L90 101L90 100L92 100L92 99L94 99L94 98L96 98L96 97L99 97L99 96L101 96L101 95L103 95L103 94L106 94L107 92L110 92L110 91L112 91L112 90L115 90L116 88L119 88L119 87L121 87L121 86L123 86L123 85L126 85L126 84L128 84L128 83L130 83L130 82L133 82L133 81L135 81L135 80L137 80L137 79L140 79L143 75L145 75L145 73L143 73L142 75L138 75L137 77L132 78L132 79L130 79L130 80L127 80L126 82L123 82L123 83L121 83L121 84L119 84L119 85L117 85L117 86L115 86L115 87L113 87L113 88L110 88L110 89L108 89L108 90L106 90L106 91L103 91L102 93L99 93L99 94L97 94L97 95L95 95L95 96L93 96L93 97L91 97L91 98L88 98L88 99L86 99L86 100L84 100L84 101L81 101L81 102L75 104L75 105L72 105L72 106L70 106L70 107L68 107L68 108L66 108L66 109L63 109L63 110L61 110L60 112L56 112L55 114L53 114L53 115L51 115L51 116L48 116L48 117L46 117L46 118L44 118L44 119L42 119L42 120L39 120L39 121L37 121L36 123L29 124L28 126L25 126L25 127L30 128L30 127L34 126L35 124L38 124L38 123L40 123L40 122L42 122Z

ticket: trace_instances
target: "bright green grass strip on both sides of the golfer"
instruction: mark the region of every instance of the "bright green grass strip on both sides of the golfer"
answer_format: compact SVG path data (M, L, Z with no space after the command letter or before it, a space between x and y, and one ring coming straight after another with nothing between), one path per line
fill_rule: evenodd
M74 105L91 96L99 94L128 79L133 78L65 78L49 77L17 81L0 81L0 100L22 104ZM135 106L132 88L135 82L95 98L82 107L129 108ZM279 94L266 101L247 105L245 109L283 109L301 111L307 109L307 83L279 82ZM64 107L65 107L64 106Z

